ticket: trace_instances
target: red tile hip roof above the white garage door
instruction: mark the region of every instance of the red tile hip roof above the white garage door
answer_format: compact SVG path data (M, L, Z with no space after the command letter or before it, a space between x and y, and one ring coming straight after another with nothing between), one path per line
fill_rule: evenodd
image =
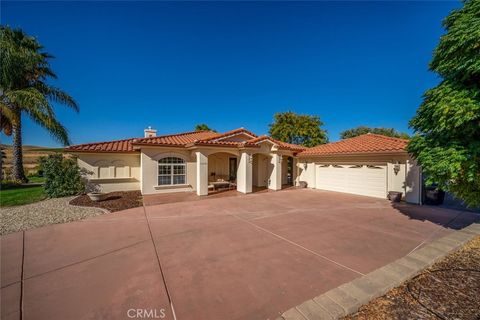
M367 133L358 137L309 148L300 156L322 156L358 153L405 152L408 140Z

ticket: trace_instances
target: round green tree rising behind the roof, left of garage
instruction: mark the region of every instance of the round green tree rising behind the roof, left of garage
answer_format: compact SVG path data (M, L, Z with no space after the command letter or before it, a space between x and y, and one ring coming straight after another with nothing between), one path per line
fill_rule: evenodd
M274 139L314 147L328 142L327 131L322 129L322 126L323 122L318 116L287 111L274 115L269 132Z

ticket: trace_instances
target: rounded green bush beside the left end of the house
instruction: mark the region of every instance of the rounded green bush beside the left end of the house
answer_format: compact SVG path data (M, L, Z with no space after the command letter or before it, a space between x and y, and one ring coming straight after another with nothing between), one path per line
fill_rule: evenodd
M81 194L85 190L82 170L75 158L65 159L61 154L53 154L40 159L45 176L45 194L49 198L59 198Z

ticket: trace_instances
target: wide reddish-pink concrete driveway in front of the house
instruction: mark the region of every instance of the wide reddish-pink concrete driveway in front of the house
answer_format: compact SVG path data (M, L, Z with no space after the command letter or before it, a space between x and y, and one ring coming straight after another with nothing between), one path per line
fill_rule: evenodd
M478 220L319 190L126 210L2 237L2 319L274 319ZM23 279L23 281L22 281Z

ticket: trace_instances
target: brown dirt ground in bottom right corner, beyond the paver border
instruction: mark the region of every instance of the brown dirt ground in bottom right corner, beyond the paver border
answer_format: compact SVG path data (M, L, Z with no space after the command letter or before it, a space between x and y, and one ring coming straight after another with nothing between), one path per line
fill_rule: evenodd
M344 320L480 319L480 237Z

